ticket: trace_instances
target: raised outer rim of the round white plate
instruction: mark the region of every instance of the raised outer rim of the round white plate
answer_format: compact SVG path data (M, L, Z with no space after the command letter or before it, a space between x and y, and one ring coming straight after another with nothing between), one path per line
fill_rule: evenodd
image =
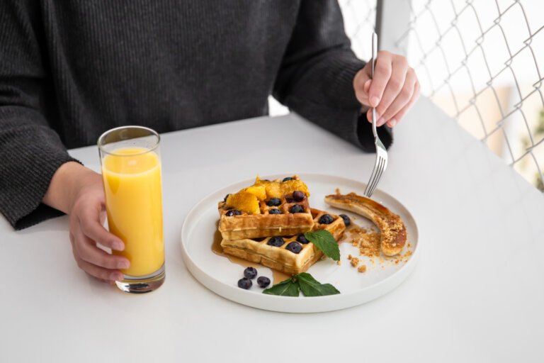
M278 174L267 174L266 176L264 176L264 178L266 179L271 179L271 178L274 178L274 179L277 179L281 176L285 176L285 175L292 175L293 173L278 173ZM366 183L362 182L362 181L357 181L356 179L351 179L351 178L348 178L348 177L341 177L341 176L338 176L338 175L331 175L331 174L317 174L317 173L298 173L297 175L299 175L301 177L301 179L303 180L307 180L307 179L324 179L324 178L327 178L327 179L339 179L339 180L343 180L343 181L348 181L350 183L355 183L355 184L360 184L361 186L366 186ZM382 191L381 189L376 189L375 193L378 193L378 194L385 194L385 196L388 196L390 197L391 199L394 199L396 201L396 203L399 203L399 205L404 208L404 211L408 213L408 215L411 217L412 219L412 224L413 224L413 232L416 234L416 243L414 245L414 250L412 252L412 256L410 256L410 258L408 259L408 261L406 263L404 263L404 265L402 267L400 267L395 273L391 274L390 276L388 277L385 277L385 279L382 279L380 281L377 281L375 282L375 284L371 284L369 286L365 286L363 289L360 289L360 290L356 290L356 291L351 291L351 292L348 292L346 294L339 294L339 295L329 295L329 296L304 296L304 297L299 297L297 298L295 301L297 301L295 303L295 301L293 301L293 297L292 296L275 296L275 295L267 295L267 294L255 294L255 293L250 293L249 291L244 291L244 290L241 290L239 289L237 286L234 286L234 285L231 285L231 284L227 284L223 281L220 281L220 280L217 280L215 279L215 277L213 277L212 275L210 275L208 272L205 272L205 270L201 267L198 266L198 264L196 264L195 261L193 261L193 259L191 258L191 255L190 253L188 252L187 250L187 246L186 246L186 243L184 242L185 238L184 238L184 235L188 232L190 227L188 227L188 223L191 222L191 217L193 217L193 215L196 212L196 210L198 208L200 208L203 204L203 201L207 200L207 199L210 199L212 196L214 196L215 194L218 194L220 191L223 191L225 189L231 189L232 187L234 186L237 186L239 184L247 184L248 182L251 183L251 180L252 179L244 179L244 180L240 180L240 181L236 181L232 184L229 184L227 186L223 186L215 191L212 191L211 193L207 194L206 196L204 196L202 199L200 199L192 208L190 211L188 211L186 217L183 219L183 224L181 226L181 233L180 233L180 244L181 244L181 255L182 255L182 258L183 258L183 262L184 264L186 264L186 267L187 269L189 270L189 272L191 272L191 274L193 275L193 277L198 281L200 282L200 284L203 284L203 286L205 286L207 289L209 289L210 291L214 292L215 294L217 295L220 295L222 296L223 298L227 298L228 300L231 300L231 301L234 301L234 302L237 302L237 303L241 303L242 305L245 305L245 306L250 306L250 307L253 307L253 308L259 308L259 309L263 309L263 310L268 310L268 311L278 311L278 312L283 312L283 313L317 313L317 312L326 312L326 311L336 311L336 310L340 310L340 309L343 309L343 308L350 308L352 306L358 306L358 305L361 305L363 303L367 303L368 301L372 301L374 300L375 298L378 298L384 294L387 294L388 292L394 290L397 288L397 286L399 286L400 284L402 284L402 282L407 279L407 277L409 277L409 275L412 273L412 270L414 269L415 265L416 265L416 262L417 260L419 259L419 255L420 255L420 250L421 250L421 234L420 234L420 231L419 231L419 227L416 223L416 220L412 214L411 211L409 211L409 209L404 206L404 203L401 203L397 198L395 198L395 196L392 196L391 194L388 194L386 193L385 191ZM212 280L212 281L215 281L215 284L218 284L219 286L216 287L212 287L212 286L209 286L211 283L210 281L203 281L203 280ZM390 285L392 284L392 286L387 286L387 285ZM384 289L385 288L385 289ZM219 290L219 291L217 291ZM378 294L370 294L370 292L373 292L373 291L376 291ZM239 293L242 293L242 294L239 294ZM246 296L247 298L243 298L244 295L243 294L248 294L248 296ZM355 297L359 296L359 295L365 295L365 294L368 294L370 295L370 298L362 298L360 300L358 299L355 299ZM228 295L228 296L226 296ZM237 295L239 296L242 296L242 298L237 298ZM373 296L375 295L375 296ZM259 298L254 298L255 296L259 296ZM285 302L285 301L289 301L290 303L293 303L291 304L291 308L288 308L288 309L283 309L283 308L271 308L270 305L273 305L273 304L269 304L269 303L264 303L264 304L259 304L261 306L256 306L254 305L253 303L251 302L248 302L248 301L251 301L251 300L259 300L259 299L265 299L266 301L270 301L271 303L273 302L278 302L278 301L281 301L281 302ZM353 303L354 301L352 301L352 303L338 303L338 304L334 304L333 306L330 306L330 307L327 307L328 303L330 303L330 301L349 301L349 300L357 300L357 302ZM303 301L303 303L302 303ZM319 301L318 304L314 304L314 302L317 302ZM307 308L300 308L300 306L295 306L295 305L308 305ZM312 305L317 305L317 306L312 306ZM268 306L268 307L267 307ZM321 308L319 308L319 306L322 306Z

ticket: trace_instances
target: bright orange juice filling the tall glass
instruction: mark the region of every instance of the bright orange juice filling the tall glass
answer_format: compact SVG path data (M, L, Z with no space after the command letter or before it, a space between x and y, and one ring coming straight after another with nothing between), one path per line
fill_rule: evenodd
M159 156L141 147L125 147L102 163L110 232L125 242L114 251L130 261L124 274L141 277L164 264L162 184Z

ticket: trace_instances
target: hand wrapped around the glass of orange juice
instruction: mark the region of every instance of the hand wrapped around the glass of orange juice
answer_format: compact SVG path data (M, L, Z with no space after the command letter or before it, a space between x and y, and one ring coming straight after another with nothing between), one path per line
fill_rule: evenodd
M111 255L96 243L123 250L120 238L103 227L106 218L102 177L91 169L67 162L53 175L43 202L69 214L70 242L77 265L87 274L113 284L123 279L119 269L130 266L128 259Z

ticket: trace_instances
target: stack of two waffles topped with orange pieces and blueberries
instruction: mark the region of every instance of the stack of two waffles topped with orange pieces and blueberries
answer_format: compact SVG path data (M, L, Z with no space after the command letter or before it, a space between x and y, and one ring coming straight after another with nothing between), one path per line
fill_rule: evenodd
M322 257L304 233L328 230L336 240L344 220L310 208L307 186L296 175L261 180L218 205L223 252L285 274L305 272Z

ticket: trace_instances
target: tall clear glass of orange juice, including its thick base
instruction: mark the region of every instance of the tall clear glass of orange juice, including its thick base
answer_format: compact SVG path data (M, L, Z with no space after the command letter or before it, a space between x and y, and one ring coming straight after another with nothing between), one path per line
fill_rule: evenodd
M111 233L125 242L113 251L130 260L119 289L153 291L164 283L160 136L141 126L113 128L98 138Z

